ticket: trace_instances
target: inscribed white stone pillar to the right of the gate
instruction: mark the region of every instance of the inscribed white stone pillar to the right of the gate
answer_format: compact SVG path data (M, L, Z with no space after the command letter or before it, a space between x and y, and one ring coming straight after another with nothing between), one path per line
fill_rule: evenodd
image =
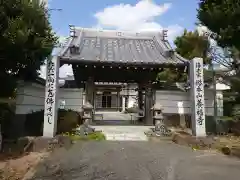
M190 61L191 112L192 132L194 136L206 136L203 59L194 58Z

